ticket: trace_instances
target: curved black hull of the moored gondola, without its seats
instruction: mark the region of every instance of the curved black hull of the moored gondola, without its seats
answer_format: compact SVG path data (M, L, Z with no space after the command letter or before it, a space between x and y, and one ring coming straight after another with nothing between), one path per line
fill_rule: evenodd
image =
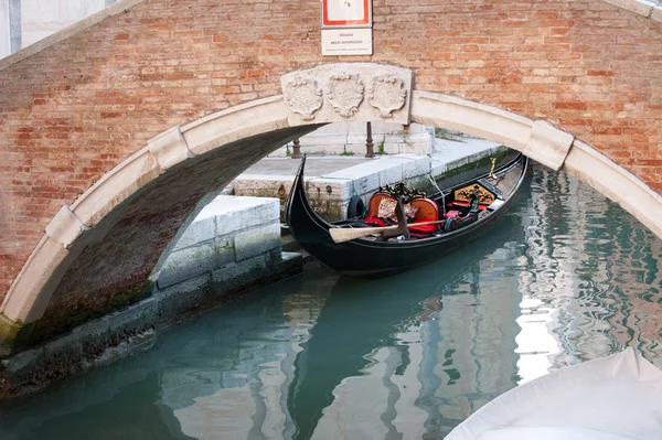
M301 248L322 265L348 276L365 278L391 276L426 265L484 236L510 207L512 196L524 178L526 163L526 158L521 157L509 164L510 171L503 172L513 172L517 175L513 180L512 191L502 201L503 203L460 229L417 239L378 242L357 238L334 243L329 229L342 227L343 222L329 223L310 206L303 182L303 159L286 203L286 221L290 234Z

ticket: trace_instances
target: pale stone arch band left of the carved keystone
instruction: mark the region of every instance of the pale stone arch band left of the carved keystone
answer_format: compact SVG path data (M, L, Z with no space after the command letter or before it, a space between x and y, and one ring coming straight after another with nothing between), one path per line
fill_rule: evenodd
M282 96L275 96L173 127L106 173L73 204L63 206L46 226L0 305L0 346L4 345L2 348L7 351L15 337L25 337L19 333L26 324L42 319L72 265L88 246L107 239L122 214L130 210L131 202L149 196L146 192L150 185L191 168L214 150L223 150L221 155L225 151L242 155L234 169L226 170L226 178L218 180L221 184L229 183L269 151L320 126L289 127L286 114ZM258 147L247 151L242 141Z

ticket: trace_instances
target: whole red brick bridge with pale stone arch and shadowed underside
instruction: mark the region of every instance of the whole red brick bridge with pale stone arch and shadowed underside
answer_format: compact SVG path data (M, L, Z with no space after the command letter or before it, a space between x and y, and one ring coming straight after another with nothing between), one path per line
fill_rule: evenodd
M321 56L319 9L124 0L0 61L4 355L148 294L201 196L321 124L384 118L380 84L405 95L393 120L524 151L662 236L660 8L374 0L374 55L342 58ZM333 72L366 82L344 116Z

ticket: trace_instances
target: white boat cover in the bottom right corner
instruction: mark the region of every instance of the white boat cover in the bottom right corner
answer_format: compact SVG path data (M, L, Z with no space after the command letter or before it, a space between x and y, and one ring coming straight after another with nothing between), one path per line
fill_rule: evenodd
M662 371L632 348L531 380L445 440L662 440Z

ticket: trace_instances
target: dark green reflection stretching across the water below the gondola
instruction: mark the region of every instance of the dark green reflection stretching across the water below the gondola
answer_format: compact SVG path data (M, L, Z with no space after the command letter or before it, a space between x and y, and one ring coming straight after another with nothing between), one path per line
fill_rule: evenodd
M312 337L301 345L303 351L295 362L296 375L288 393L289 414L298 428L295 438L307 439L316 432L324 408L333 403L334 389L374 365L371 356L378 356L378 347L395 345L394 328L403 330L404 322L415 321L423 301L444 296L444 287L457 283L477 260L521 237L520 222L512 214L483 242L419 269L372 281L340 277ZM424 367L431 369L435 362L428 359L436 358L436 354L424 350ZM421 376L418 374L417 379Z

